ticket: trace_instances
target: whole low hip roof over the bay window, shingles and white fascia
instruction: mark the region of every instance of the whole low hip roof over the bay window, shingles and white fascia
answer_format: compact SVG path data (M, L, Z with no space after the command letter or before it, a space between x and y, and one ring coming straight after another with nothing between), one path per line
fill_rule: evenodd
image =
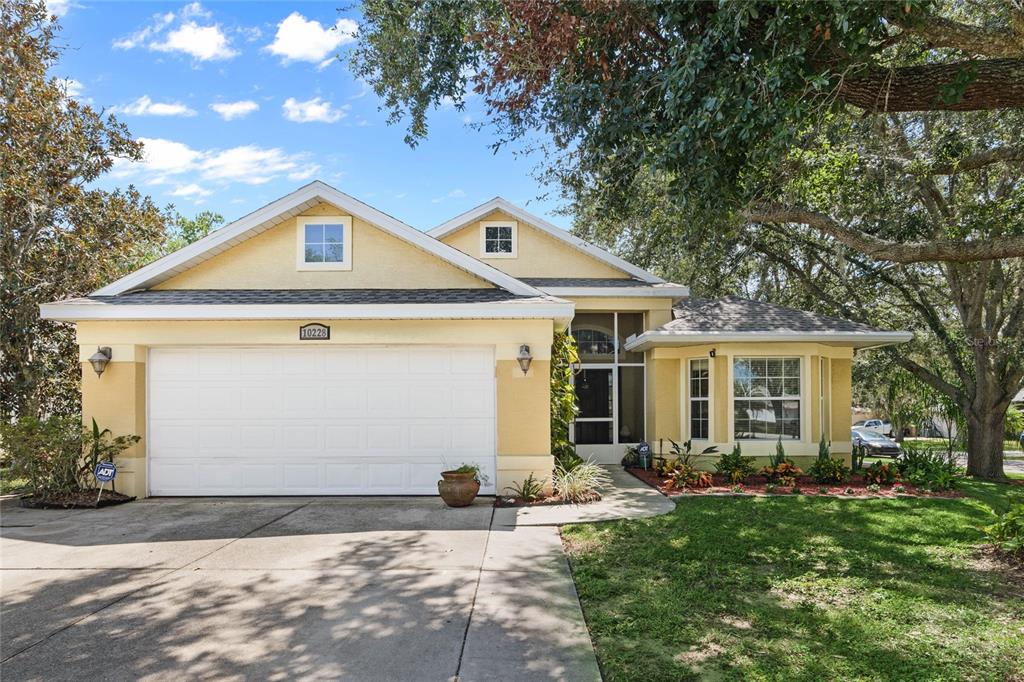
M630 337L626 349L726 341L800 341L873 348L913 338L909 332L881 330L738 296L686 299L676 303L672 313L672 322Z

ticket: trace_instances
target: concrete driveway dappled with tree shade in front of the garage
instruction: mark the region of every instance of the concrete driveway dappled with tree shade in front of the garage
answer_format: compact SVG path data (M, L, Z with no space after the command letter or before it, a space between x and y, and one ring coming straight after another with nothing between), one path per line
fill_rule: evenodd
M10 680L595 680L557 528L489 500L0 509Z

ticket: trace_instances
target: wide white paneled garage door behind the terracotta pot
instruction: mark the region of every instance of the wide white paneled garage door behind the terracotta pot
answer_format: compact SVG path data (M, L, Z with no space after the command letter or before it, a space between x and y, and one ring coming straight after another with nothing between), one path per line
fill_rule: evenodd
M492 348L154 348L152 495L437 495L446 463L495 491Z

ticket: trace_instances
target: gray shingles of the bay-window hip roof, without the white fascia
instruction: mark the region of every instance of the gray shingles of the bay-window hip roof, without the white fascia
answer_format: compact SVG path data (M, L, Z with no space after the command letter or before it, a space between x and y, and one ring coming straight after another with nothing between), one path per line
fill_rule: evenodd
M738 296L690 298L673 308L663 330L677 332L879 332L868 325Z

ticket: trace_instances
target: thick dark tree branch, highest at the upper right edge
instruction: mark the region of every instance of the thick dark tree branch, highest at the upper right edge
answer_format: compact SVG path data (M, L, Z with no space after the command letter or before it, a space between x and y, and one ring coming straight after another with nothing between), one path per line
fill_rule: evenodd
M963 92L956 96L957 83ZM1024 58L871 68L843 79L839 98L866 112L977 112L1024 106Z

